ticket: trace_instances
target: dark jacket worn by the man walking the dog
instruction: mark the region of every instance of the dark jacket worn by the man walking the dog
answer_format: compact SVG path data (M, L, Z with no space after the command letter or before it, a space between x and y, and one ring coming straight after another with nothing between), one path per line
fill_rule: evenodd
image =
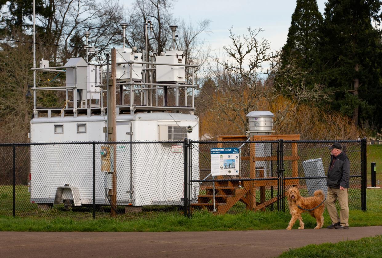
M334 156L331 155L326 186L337 189L339 189L340 186L349 188L350 161L348 156L343 152L338 154L332 167L333 158ZM332 169L330 169L330 167L332 167Z

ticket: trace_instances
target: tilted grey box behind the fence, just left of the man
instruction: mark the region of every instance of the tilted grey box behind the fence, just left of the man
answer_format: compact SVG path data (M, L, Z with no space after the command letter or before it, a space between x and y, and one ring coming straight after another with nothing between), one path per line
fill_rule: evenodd
M324 177L315 179L305 179L309 196L313 196L314 191L319 189L321 189L326 196L328 189L326 186L325 170L324 165L322 164L322 158L308 159L306 161L303 161L303 168L305 177Z

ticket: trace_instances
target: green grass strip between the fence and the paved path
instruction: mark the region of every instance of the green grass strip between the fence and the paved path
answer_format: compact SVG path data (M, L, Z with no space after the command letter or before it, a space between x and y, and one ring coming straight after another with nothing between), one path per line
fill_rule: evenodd
M352 209L349 214L349 224L355 226L382 225L380 214L382 211L381 189L367 189L367 212ZM184 217L181 211L150 212L147 216L121 215L113 219L106 214L104 217L97 215L97 219L77 219L73 211L56 212L58 216L16 217L0 216L0 230L2 231L212 231L212 230L260 230L260 229L285 229L290 220L288 212L245 211L238 214L212 215L206 211L193 213L191 218ZM47 212L47 213L49 213ZM60 214L66 213L67 216ZM72 213L72 214L71 214ZM48 215L48 214L47 214ZM54 215L54 214L53 214ZM325 224L330 224L327 211L324 213ZM306 228L316 226L316 221L308 214L303 214ZM297 229L298 223L293 227Z

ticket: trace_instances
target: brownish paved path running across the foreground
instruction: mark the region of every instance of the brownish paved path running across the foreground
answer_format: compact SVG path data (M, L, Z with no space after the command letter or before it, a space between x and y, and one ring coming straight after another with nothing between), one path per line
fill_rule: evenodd
M274 257L289 248L382 234L349 230L212 232L0 232L0 257Z

